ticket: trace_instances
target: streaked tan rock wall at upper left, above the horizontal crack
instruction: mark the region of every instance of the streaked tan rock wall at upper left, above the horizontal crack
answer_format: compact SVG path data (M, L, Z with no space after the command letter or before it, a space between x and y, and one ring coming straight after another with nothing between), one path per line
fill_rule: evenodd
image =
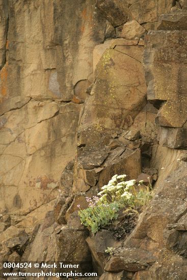
M72 7L75 7L73 1L68 5L48 0L39 1L37 5L27 2L24 7L19 2L10 2L9 51L4 74L11 74L12 80L6 83L6 96L10 92L9 98L22 95L66 101L71 99L76 82L91 79L90 48L102 42L105 20L98 20L98 15L93 13L95 7L92 3L83 4L80 1L76 17ZM64 16L61 16L62 13ZM23 20L20 20L20 14ZM74 17L71 28L66 24L69 17ZM96 31L98 21L103 26L99 32ZM12 30L15 22L19 36ZM72 43L75 40L74 29L77 30L78 48ZM81 67L83 60L84 68ZM21 61L24 61L23 68ZM70 69L73 68L74 73L71 75ZM18 85L16 81L20 78ZM14 93L11 93L12 87Z

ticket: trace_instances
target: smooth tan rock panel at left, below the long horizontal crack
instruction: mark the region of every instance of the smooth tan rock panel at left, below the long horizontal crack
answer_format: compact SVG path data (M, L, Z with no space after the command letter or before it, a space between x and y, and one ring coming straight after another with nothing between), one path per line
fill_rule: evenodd
M8 142L11 135L14 141L4 143L6 146L0 159L4 162L1 165L2 191L6 185L9 191L11 189L11 196L5 191L1 198L2 207L6 203L11 211L21 208L28 212L56 197L62 159L66 164L75 153L79 113L76 106L74 111L68 112L66 105L60 108L56 102L33 100L20 110L10 111L2 117L8 120L1 130L2 139Z

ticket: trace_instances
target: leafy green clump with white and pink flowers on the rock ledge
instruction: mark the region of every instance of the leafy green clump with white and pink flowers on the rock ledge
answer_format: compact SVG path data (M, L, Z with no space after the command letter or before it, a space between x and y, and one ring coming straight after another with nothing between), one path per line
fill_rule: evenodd
M119 210L139 214L152 198L150 185L143 181L137 185L136 180L125 181L126 175L114 175L108 185L104 185L98 197L86 198L87 209L79 208L78 215L87 228L96 233L117 219Z

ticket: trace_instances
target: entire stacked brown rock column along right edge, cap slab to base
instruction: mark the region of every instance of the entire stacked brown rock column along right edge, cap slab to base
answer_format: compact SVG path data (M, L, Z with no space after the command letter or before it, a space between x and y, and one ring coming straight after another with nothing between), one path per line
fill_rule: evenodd
M185 18L184 11L161 16L157 31L146 36L144 52L148 100L163 103L156 117L160 143L175 149L186 149Z

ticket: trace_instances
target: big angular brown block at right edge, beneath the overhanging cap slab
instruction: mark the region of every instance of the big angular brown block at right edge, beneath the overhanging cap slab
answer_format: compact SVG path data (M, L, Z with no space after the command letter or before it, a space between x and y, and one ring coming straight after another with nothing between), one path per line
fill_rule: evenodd
M152 31L146 36L147 48L144 52L144 63L148 83L147 96L149 100L167 100L158 112L156 120L161 126L182 127L186 121L185 95L182 94L186 87L185 79L180 80L180 85L176 83L175 78L169 85L167 83L172 71L181 71L181 77L185 72L185 59L181 57L185 53L185 38L186 31ZM179 42L179 45L176 42ZM155 47L152 47L153 45ZM164 73L162 70L166 64L169 72ZM180 70L177 70L179 68ZM180 96L183 96L181 101Z

